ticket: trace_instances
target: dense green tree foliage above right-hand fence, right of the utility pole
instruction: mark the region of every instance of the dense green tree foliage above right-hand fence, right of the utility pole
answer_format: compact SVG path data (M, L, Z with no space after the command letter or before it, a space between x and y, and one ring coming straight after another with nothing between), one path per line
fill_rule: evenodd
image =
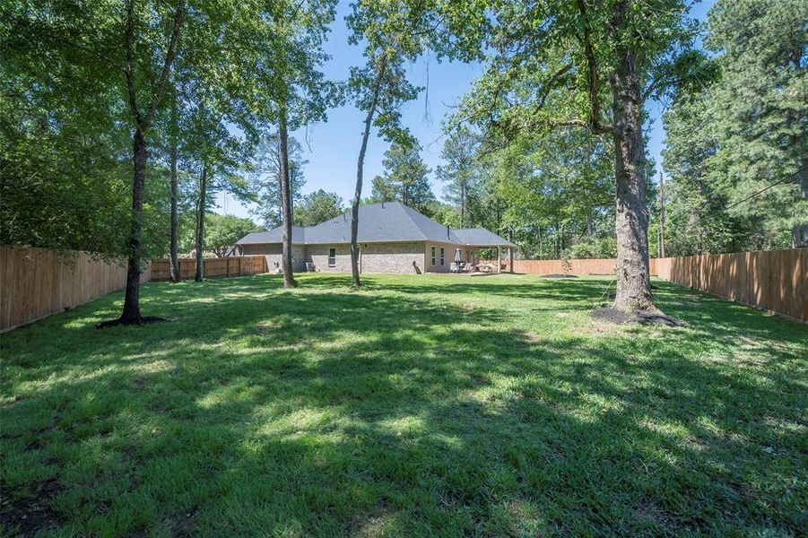
M706 43L718 54L665 115L675 254L788 247L792 229L808 221L794 183L741 203L808 155L806 10L798 1L711 9Z

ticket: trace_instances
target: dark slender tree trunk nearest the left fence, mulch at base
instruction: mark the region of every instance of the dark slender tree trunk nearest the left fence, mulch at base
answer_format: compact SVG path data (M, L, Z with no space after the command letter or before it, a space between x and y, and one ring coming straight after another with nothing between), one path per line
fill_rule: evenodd
M120 320L136 322L140 319L140 265L143 255L143 174L148 151L146 137L140 126L135 128L135 180L132 183L132 228L129 230L129 260L126 265L126 294Z

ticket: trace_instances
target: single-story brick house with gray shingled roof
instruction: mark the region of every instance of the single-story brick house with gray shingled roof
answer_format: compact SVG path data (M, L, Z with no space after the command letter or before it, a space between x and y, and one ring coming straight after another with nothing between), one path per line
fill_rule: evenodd
M264 255L270 271L281 266L282 228L254 232L239 239L244 255ZM351 216L291 231L292 269L323 273L351 272ZM448 273L457 260L474 264L482 248L516 248L484 228L451 229L397 202L361 205L359 209L362 273Z

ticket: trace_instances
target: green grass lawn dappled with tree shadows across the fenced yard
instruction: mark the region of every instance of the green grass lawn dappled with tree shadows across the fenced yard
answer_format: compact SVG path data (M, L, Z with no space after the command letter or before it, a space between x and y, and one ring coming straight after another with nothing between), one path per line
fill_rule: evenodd
M150 283L2 336L0 534L795 535L808 327L658 282ZM23 517L24 516L24 517Z

